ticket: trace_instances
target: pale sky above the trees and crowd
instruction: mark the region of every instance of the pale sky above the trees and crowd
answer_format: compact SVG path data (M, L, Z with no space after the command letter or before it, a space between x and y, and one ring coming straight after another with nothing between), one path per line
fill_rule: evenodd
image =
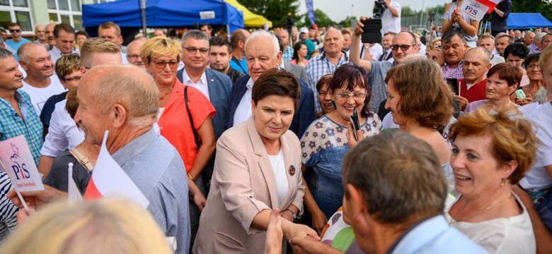
M437 6L449 3L451 0L393 0L401 6L410 6L414 11L422 8ZM372 0L313 0L314 9L319 8L326 13L333 21L340 22L347 16L369 16L372 17ZM423 5L423 7L422 7ZM299 14L306 13L305 0L299 0Z

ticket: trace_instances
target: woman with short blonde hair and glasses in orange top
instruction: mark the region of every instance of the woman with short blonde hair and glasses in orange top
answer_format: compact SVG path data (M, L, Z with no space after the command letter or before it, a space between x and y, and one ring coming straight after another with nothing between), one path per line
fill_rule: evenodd
M157 123L161 135L173 145L188 175L191 241L193 243L205 206L207 190L201 172L214 152L212 117L215 109L209 99L176 78L182 48L176 40L154 37L140 48L140 56L159 88ZM186 181L182 179L182 181ZM190 245L191 248L191 245Z

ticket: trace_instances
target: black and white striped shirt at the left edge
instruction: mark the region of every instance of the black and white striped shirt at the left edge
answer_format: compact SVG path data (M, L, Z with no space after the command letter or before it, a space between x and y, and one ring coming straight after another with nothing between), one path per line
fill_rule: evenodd
M0 171L0 243L17 226L16 214L19 208L13 205L9 198L6 198L6 194L11 188L8 174Z

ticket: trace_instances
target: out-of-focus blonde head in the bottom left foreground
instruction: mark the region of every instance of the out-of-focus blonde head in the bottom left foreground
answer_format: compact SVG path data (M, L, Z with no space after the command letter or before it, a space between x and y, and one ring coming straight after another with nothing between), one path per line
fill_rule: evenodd
M48 205L13 231L1 249L10 254L172 253L149 212L113 198Z

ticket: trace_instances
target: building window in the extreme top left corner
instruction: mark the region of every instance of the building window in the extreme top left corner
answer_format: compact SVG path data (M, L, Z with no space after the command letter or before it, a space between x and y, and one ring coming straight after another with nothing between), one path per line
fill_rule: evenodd
M21 25L23 35L33 35L33 22L30 20L27 0L0 0L0 25L7 29L11 22Z

